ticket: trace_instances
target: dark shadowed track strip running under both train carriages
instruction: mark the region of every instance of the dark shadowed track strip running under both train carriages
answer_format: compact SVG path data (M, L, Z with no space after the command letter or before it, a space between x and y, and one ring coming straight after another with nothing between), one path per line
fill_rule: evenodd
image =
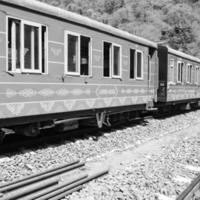
M194 109L190 110L193 111ZM74 141L77 138L85 138L85 137L100 137L102 133L112 131L112 129L121 129L124 127L131 126L133 124L143 124L146 119L156 118L156 119L164 119L168 117L172 117L175 115L187 113L190 111L174 111L173 113L159 113L149 115L144 113L139 117L133 118L129 121L115 121L112 123L111 127L104 127L103 129L98 129L93 126L81 126L77 129L70 131L57 132L56 129L47 129L44 130L43 133L37 137L30 138L22 135L8 135L5 139L4 143L0 144L0 155L6 153L16 152L23 148L37 148L40 146L50 145L50 144L58 144L63 140Z

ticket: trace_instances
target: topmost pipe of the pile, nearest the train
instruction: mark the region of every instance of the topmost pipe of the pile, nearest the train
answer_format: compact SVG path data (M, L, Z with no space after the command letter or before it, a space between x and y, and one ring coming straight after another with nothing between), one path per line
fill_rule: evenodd
M79 163L79 162L80 162L79 160L76 160L76 161L74 161L74 162L72 162L72 163L63 164L63 165L60 165L60 166L55 167L55 168L53 168L53 169L48 169L48 170L45 170L45 171L40 172L40 173L38 173L38 174L33 174L33 175L31 175L31 176L28 176L28 177L19 179L19 180L17 180L17 181L13 181L13 182L11 182L11 183L5 183L5 184L3 184L3 185L0 186L0 191L1 191L1 188L7 187L7 186L9 186L9 185L14 185L14 184L16 184L16 183L19 183L19 182L22 182L22 181L25 181L25 180L28 180L28 179L31 179L31 178L40 176L40 175L42 175L42 174L47 174L47 173L50 173L50 172L52 172L52 171L55 171L55 170L58 170L58 169L61 169L61 168L64 168L64 167L68 167L68 166L71 166L71 165L75 165L75 164L77 164L77 163Z

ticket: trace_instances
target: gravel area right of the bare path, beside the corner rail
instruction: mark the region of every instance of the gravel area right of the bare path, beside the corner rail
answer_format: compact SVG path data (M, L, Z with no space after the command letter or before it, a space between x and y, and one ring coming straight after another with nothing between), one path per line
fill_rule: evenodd
M177 181L177 177L192 180L198 174L184 166L199 166L199 149L200 137L180 141L164 147L159 155L147 156L139 162L121 164L120 169L112 170L109 175L90 182L82 191L65 199L153 200L159 199L161 195L175 199L189 185Z

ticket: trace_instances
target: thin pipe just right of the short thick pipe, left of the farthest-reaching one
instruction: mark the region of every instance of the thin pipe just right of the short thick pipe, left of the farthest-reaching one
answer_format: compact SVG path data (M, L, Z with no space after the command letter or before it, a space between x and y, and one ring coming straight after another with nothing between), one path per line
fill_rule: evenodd
M38 191L36 193L33 193L31 195L24 196L24 197L20 198L19 200L34 200L34 199L36 199L38 197L44 196L44 195L46 195L48 193L51 193L51 192L53 192L55 190L63 188L65 186L67 186L67 185L73 184L73 183L75 183L77 181L80 181L82 179L85 179L87 177L88 177L87 174L79 175L79 176L76 176L75 178L73 177L70 180L68 180L67 182L64 182L64 183L62 183L60 185L55 185L55 186L52 186L50 188L46 188L46 189L44 189L42 191Z

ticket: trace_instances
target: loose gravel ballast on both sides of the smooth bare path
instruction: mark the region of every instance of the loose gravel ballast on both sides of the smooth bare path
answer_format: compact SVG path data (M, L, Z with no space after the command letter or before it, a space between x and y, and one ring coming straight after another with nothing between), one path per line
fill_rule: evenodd
M147 119L143 124L112 130L99 137L88 136L74 142L64 141L54 146L5 155L0 157L0 185L77 159L98 161L111 151L134 149L199 122L200 111L193 111L166 119ZM179 171L182 174L184 169L180 164L199 165L199 145L199 137L194 137L163 147L160 155L122 164L123 170L112 170L109 175L92 181L80 193L66 199L155 199L156 193L174 197L186 185L175 183L174 176ZM195 176L196 173L189 173L190 178Z

